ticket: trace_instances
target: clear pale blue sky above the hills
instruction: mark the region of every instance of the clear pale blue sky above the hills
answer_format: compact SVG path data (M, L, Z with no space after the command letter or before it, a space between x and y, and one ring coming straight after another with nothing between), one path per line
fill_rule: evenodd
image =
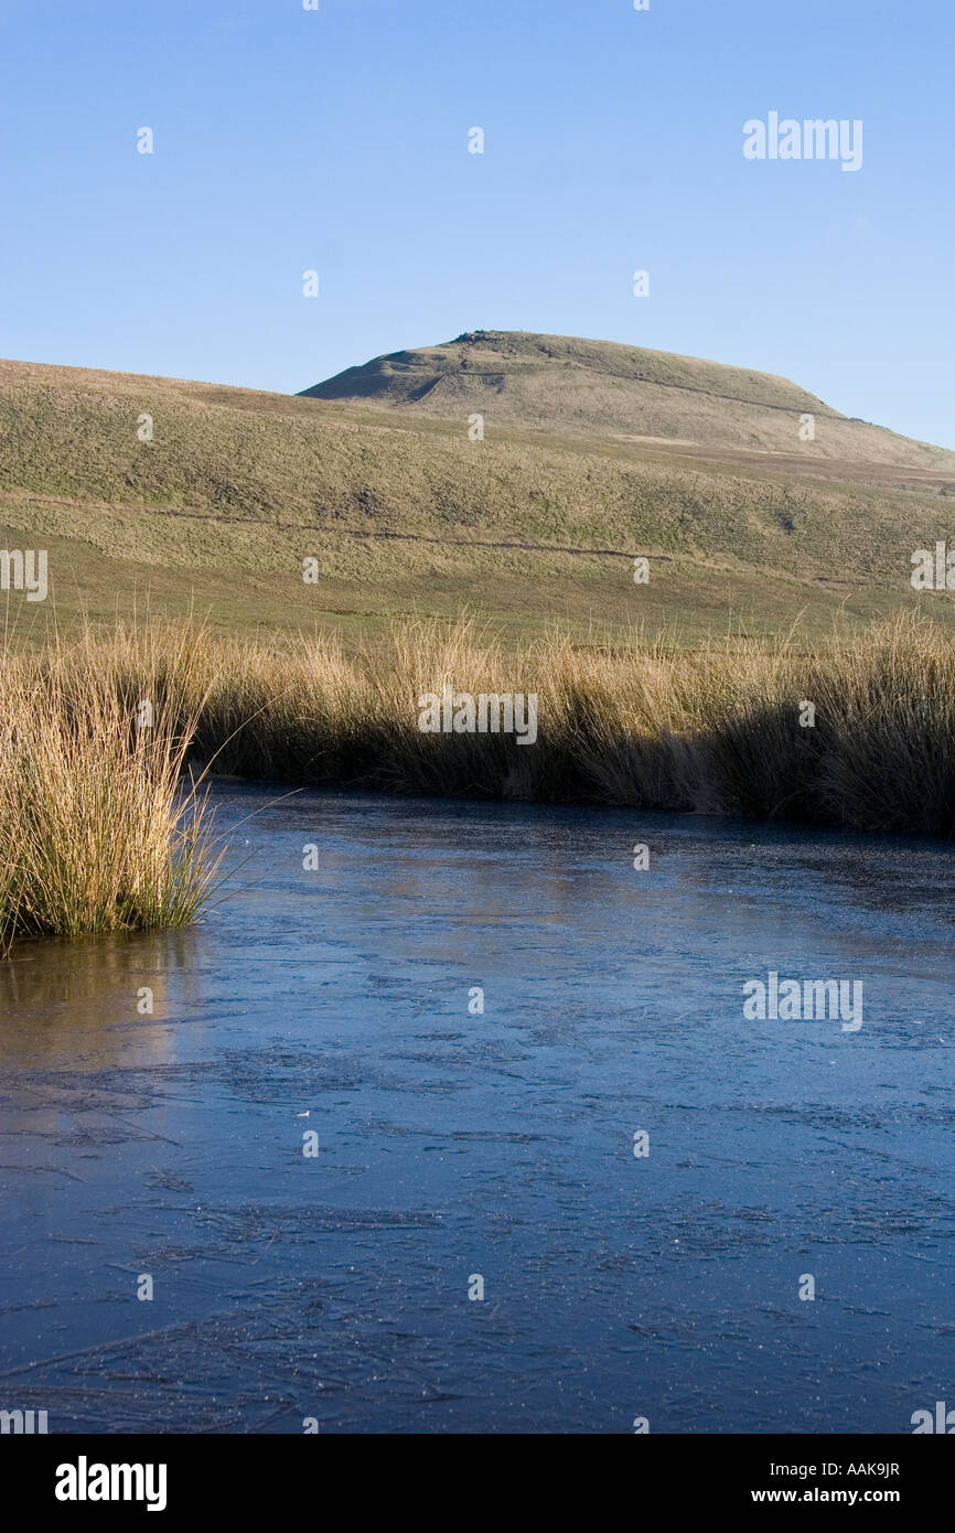
M955 448L952 0L319 6L0 0L2 356L297 391L552 331ZM861 169L745 159L773 110Z

